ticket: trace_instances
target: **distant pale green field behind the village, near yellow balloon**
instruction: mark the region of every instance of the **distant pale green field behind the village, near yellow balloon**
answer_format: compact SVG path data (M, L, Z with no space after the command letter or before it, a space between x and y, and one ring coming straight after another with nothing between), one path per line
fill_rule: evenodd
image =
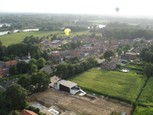
M48 36L50 34L57 34L57 36L65 36L62 31L37 31L37 32L19 32L19 33L13 33L13 34L7 34L0 36L0 41L2 41L3 45L8 46L10 44L20 43L23 41L23 39L26 36ZM87 35L89 32L83 31L83 32L71 32L69 37L73 37L76 35Z

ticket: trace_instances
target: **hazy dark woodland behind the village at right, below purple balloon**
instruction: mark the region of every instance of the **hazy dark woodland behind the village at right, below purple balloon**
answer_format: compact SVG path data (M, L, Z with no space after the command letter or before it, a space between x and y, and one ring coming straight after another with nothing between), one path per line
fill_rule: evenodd
M124 23L109 23L106 27L95 30L106 39L153 38L153 30Z

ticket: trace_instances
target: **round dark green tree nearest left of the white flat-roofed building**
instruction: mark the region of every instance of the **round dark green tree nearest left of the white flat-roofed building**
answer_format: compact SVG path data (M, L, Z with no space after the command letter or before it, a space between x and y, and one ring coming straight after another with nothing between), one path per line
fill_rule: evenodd
M31 76L31 85L33 92L44 91L48 88L50 79L44 72L34 73Z

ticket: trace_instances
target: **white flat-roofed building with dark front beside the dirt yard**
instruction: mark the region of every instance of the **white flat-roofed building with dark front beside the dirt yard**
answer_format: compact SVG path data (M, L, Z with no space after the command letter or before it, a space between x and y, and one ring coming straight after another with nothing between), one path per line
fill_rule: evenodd
M77 83L68 81L68 80L60 80L57 82L57 89L61 91L65 91L71 94L76 94L80 92L80 88L77 86Z

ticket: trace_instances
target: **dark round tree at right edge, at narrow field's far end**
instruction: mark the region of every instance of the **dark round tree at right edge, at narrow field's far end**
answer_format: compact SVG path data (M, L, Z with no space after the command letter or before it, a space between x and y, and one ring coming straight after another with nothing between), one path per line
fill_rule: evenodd
M153 76L153 65L150 63L146 64L144 67L144 73L147 77Z

